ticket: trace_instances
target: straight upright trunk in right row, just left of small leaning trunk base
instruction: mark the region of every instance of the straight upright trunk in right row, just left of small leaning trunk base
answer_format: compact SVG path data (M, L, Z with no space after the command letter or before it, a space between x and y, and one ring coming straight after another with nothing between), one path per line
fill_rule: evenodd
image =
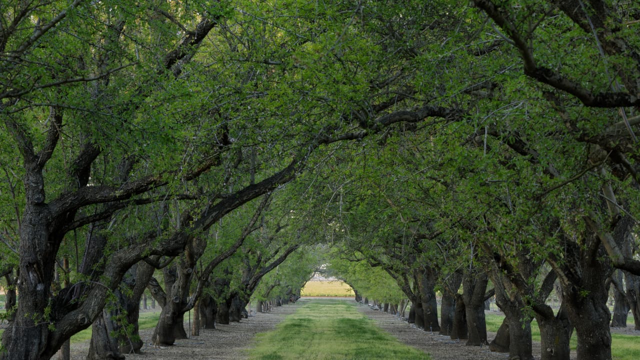
M484 293L488 277L484 273L465 274L462 281L467 315L467 345L488 345L486 339L486 322L484 321Z

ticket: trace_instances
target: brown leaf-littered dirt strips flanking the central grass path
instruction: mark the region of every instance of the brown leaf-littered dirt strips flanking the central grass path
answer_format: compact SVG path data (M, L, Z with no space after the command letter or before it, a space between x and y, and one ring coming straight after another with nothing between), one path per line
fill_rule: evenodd
M218 329L202 329L200 336L192 336L187 340L179 340L173 347L155 348L152 345L145 345L144 354L127 355L131 360L242 360L247 358L247 350L252 347L255 334L269 331L285 316L294 313L298 307L304 304L301 300L296 304L276 307L269 313L252 313L248 319L243 319L240 323L230 325L217 325ZM416 329L412 324L399 320L396 316L382 311L372 310L369 306L358 305L358 310L375 320L378 325L390 334L396 336L398 340L420 348L431 354L433 360L488 360L488 359L508 359L508 354L490 352L488 347L467 347L464 341L452 341L447 336L440 336L437 332L425 332ZM611 329L612 332L623 332L627 334L640 335L634 331L633 326L627 329ZM153 329L141 331L140 336L149 343ZM494 333L488 333L488 338L492 339ZM72 345L72 360L84 360L88 350L87 343L76 343ZM534 356L540 358L540 343L534 343ZM575 359L575 354L573 354Z

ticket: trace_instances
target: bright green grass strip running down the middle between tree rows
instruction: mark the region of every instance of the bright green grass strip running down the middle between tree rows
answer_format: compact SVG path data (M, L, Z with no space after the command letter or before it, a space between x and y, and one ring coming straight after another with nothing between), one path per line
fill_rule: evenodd
M257 334L250 359L429 359L376 327L353 304L331 299L303 302L276 330Z

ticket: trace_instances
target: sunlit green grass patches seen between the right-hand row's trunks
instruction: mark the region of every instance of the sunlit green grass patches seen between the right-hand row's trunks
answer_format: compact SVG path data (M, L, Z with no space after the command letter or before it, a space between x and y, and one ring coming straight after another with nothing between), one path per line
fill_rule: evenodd
M502 315L487 314L486 318L486 330L497 332L502 319ZM634 323L633 316L629 316L627 323ZM540 328L536 320L531 322L531 338L533 341L540 342ZM572 350L577 347L577 338L575 331L569 341L569 346ZM623 334L611 334L611 357L613 360L636 360L640 359L640 338L634 335Z

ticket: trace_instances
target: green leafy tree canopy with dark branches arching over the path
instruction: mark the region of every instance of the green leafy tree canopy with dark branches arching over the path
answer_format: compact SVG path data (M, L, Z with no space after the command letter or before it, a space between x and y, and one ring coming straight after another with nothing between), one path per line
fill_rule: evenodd
M431 329L436 292L558 320L557 281L579 358L611 358L609 284L640 276L636 3L0 7L0 359L50 358L153 268L179 318L319 265Z

